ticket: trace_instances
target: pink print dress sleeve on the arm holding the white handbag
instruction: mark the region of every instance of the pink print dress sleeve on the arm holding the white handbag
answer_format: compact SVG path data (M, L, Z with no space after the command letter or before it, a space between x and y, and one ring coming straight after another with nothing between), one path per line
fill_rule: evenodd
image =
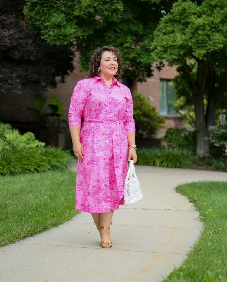
M123 123L126 132L135 132L135 121L133 119L133 102L132 95L128 87L125 86L124 91L126 92L126 109L123 116Z

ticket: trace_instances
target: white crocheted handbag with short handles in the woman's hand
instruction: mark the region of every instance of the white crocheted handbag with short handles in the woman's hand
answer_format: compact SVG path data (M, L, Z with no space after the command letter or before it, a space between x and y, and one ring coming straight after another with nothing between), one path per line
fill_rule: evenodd
M132 175L134 174L134 177ZM129 169L124 183L124 204L131 205L143 198L140 183L136 176L134 161L130 160Z

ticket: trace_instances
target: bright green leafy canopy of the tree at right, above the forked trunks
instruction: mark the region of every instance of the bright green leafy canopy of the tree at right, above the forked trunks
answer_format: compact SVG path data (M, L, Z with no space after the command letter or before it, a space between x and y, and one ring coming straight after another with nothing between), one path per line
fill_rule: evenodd
M155 31L152 44L155 59L167 58L169 65L178 65L179 59L187 57L212 60L209 55L227 45L226 9L226 1L203 1L201 5L192 1L174 3ZM213 58L216 59L217 56ZM221 70L221 65L217 67Z

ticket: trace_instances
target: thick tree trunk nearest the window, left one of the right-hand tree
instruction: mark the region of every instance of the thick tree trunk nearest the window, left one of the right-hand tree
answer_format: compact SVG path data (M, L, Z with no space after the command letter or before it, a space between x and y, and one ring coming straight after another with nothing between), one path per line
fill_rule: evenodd
M203 93L193 93L193 98L196 115L196 155L204 157L209 155L209 141L204 113Z

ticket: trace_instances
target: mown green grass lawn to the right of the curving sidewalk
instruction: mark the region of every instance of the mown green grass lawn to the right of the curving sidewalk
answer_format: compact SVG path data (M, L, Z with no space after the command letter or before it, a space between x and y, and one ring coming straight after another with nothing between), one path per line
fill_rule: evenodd
M227 182L196 182L176 187L204 221L199 241L183 264L164 281L227 281Z

